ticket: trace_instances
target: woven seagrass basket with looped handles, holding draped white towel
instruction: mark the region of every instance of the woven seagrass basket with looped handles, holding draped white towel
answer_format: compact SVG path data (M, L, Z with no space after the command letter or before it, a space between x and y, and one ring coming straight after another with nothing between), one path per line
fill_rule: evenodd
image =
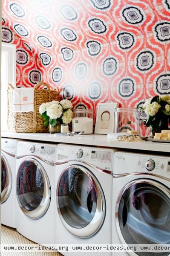
M34 112L13 112L14 87L8 86L8 131L18 133L44 133L48 128L43 125L43 119L39 113L39 107L43 102L60 100L58 88L51 90L45 82L40 82L34 87Z

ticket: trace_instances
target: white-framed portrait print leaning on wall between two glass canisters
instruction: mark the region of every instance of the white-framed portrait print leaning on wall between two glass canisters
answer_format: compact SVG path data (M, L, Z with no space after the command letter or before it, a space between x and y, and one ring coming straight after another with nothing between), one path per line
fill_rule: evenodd
M95 134L108 134L114 131L114 112L118 107L118 103L99 103L96 123Z

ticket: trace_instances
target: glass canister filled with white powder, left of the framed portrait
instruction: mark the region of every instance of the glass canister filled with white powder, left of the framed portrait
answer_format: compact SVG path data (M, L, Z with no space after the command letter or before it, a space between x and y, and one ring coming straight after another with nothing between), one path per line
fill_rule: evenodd
M72 131L93 133L93 111L90 109L74 109L72 119Z

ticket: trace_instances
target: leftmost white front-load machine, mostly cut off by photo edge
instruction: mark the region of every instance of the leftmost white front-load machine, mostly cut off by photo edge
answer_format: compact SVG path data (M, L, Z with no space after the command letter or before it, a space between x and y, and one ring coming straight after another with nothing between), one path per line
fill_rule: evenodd
M1 139L1 223L16 228L15 176L17 140Z

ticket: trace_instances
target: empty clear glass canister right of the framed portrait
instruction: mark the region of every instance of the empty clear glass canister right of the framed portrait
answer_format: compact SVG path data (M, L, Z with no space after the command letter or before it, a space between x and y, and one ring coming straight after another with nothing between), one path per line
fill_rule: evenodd
M138 108L115 108L115 133L136 131L139 133Z

